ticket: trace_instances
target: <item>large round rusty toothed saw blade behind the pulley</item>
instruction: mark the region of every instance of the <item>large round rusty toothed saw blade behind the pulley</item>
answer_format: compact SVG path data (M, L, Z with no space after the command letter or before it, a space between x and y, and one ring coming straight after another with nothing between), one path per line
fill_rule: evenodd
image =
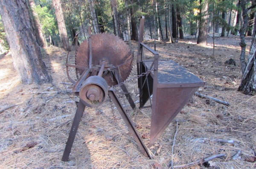
M129 46L113 34L94 34L90 38L92 41L92 66L99 65L99 61L106 58L109 64L119 66L118 70L122 80L127 79L132 69L133 57ZM76 65L89 68L89 58L89 39L87 39L77 49ZM82 74L83 70L78 69L78 72ZM104 76L104 79L109 86L117 84L109 72Z

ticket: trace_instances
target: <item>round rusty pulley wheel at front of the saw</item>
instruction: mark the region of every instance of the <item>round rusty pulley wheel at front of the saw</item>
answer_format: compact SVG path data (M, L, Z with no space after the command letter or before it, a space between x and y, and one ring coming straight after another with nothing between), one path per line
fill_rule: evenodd
M101 106L108 95L108 83L100 76L90 76L82 85L79 97L82 103L88 107Z

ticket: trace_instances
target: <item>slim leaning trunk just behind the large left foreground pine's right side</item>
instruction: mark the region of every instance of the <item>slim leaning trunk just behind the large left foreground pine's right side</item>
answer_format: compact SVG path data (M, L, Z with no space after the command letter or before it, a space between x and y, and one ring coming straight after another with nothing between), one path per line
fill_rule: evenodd
M37 37L38 45L41 47L47 48L47 42L43 34L43 29L40 23L40 20L38 19L38 14L35 12L35 2L34 0L29 0L29 6L31 8L32 18L33 18L33 25L35 29L35 34Z

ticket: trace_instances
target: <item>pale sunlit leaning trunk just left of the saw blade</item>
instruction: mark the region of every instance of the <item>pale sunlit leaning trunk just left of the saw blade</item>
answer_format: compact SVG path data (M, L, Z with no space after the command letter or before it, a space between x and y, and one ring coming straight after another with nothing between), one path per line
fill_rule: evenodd
M68 51L70 48L70 45L67 37L67 29L65 25L64 15L61 8L61 0L52 0L52 5L55 9L55 15L58 22L58 30L61 38L61 46Z

